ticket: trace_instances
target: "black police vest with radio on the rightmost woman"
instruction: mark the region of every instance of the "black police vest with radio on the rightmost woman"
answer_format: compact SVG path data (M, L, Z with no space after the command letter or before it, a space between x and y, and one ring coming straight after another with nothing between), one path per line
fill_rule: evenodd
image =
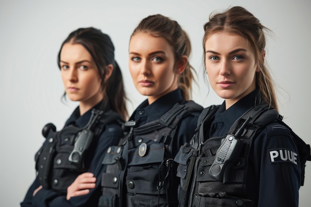
M180 207L255 206L255 202L244 195L247 160L253 137L272 121L288 127L275 109L262 104L254 106L236 120L226 137L205 140L218 108L210 106L203 110L198 119L197 133L190 144L180 148L175 157L179 163L177 176L181 178L178 191ZM311 160L310 145L288 129L297 144L303 185L305 163Z

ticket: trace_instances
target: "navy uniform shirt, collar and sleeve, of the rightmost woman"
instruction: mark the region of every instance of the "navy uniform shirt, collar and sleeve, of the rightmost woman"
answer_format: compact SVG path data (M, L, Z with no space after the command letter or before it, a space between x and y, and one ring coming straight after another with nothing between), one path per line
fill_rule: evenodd
M257 94L258 90L251 92L227 110L224 102L211 124L210 137L226 136L235 120L255 105ZM286 127L272 122L257 132L248 166L245 193L258 202L258 207L298 207L300 162Z

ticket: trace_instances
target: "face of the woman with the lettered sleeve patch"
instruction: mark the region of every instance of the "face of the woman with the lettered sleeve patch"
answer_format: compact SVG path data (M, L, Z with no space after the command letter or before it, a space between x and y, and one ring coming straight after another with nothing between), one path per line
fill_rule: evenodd
M205 66L211 86L225 99L227 109L256 88L254 50L239 35L212 34L205 42Z

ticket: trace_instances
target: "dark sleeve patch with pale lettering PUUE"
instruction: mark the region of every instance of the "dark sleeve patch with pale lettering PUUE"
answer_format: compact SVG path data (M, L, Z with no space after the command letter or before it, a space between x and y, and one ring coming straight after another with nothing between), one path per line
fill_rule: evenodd
M271 163L290 162L298 166L298 154L293 150L286 148L271 149L269 150L269 156Z

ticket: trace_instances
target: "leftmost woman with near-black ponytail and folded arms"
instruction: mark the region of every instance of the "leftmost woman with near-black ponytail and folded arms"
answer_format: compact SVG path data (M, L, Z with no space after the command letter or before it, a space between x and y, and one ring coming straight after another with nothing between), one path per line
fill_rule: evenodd
M57 132L53 124L43 128L46 141L35 156L37 176L21 207L96 206L104 152L123 136L126 96L109 36L95 28L73 31L61 46L58 66L64 95L79 106L63 130ZM78 176L93 181L87 195L67 193Z

